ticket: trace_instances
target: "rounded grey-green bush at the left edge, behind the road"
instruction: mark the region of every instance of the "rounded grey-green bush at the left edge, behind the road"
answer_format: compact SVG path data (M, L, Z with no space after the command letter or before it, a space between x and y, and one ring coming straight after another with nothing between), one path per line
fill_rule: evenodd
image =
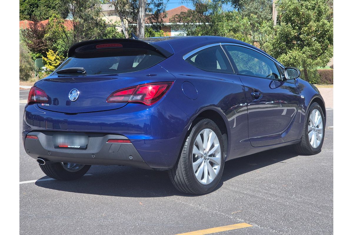
M27 81L31 78L31 70L34 69L34 61L31 58L30 51L24 42L20 42L20 80Z

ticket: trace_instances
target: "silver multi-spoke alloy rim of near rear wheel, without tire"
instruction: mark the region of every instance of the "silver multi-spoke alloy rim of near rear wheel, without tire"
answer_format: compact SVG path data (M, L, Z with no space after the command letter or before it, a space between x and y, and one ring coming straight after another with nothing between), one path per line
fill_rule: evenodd
M221 166L221 147L216 133L203 129L197 134L192 150L192 168L196 179L204 185L211 183Z

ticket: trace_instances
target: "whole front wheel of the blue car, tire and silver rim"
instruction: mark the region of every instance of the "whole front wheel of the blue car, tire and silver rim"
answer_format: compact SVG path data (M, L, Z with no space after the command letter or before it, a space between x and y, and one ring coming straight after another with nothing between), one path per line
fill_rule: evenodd
M312 115L313 111L315 111L315 110L317 110L319 112L319 114L321 116L321 120L322 120L322 129L321 129L322 133L321 133L321 135L319 133L320 128L317 128L319 125L315 126L316 129L312 129L312 127L309 127L309 126L313 125L313 124L311 124L311 122L312 122L311 119L315 119L315 118L312 118L311 115ZM314 125L316 125L316 123ZM319 140L319 137L321 136L321 140L320 140L319 144L315 144L315 143L312 144L310 141L309 131L312 132L313 130L314 131L316 130L316 133L314 132L314 134L315 134L315 137L317 137L317 136L318 137L315 138L314 136L312 136L311 140L315 142L315 139ZM297 152L301 155L318 154L321 151L321 147L324 142L324 137L325 137L325 118L324 118L321 106L318 103L314 102L310 105L310 107L308 109L307 115L305 117L305 125L304 125L304 129L302 131L301 141L295 145L295 150L297 150Z

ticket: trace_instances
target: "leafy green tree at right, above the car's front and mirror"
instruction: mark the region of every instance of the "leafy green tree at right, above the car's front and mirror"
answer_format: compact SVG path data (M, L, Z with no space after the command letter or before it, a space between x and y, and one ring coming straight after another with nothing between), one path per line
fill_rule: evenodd
M269 53L285 66L324 67L333 56L333 12L327 0L278 0Z

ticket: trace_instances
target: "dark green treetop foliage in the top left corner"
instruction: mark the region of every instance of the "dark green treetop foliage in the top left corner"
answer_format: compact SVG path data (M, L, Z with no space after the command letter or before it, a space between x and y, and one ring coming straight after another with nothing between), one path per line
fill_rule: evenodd
M46 20L61 9L60 0L20 0L20 20Z

